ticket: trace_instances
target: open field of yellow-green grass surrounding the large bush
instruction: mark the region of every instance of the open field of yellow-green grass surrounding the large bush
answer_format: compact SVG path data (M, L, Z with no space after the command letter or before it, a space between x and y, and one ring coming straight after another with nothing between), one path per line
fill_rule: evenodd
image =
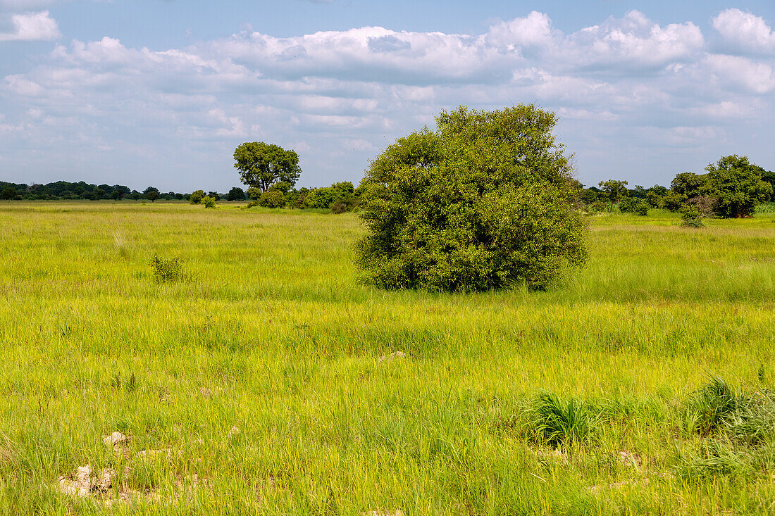
M352 214L0 203L0 514L771 513L775 419L687 406L711 374L769 403L775 213L678 222L594 216L552 291L449 295L357 284ZM113 487L60 492L86 464Z

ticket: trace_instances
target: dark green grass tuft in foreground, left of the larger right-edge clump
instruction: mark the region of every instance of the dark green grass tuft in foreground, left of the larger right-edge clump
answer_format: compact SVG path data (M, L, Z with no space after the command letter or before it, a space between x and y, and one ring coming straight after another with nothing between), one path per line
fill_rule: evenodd
M528 428L540 440L557 447L563 443L587 442L597 423L587 404L573 397L563 401L541 391L529 405Z

